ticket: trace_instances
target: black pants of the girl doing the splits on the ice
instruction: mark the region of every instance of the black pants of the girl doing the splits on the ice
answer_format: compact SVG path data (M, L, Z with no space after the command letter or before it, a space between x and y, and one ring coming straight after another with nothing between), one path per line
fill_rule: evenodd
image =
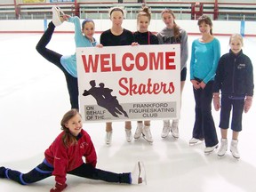
M29 183L34 183L39 180L44 180L52 176L53 167L48 164L45 159L42 164L38 164L36 168L28 173L21 173L11 169L7 169L5 172L5 178L14 180L21 185L27 185ZM92 180L104 180L107 182L116 183L128 183L131 184L131 173L115 173L107 172L100 169L94 168L91 164L82 164L75 170L68 172L68 174L76 175L78 177L88 178Z

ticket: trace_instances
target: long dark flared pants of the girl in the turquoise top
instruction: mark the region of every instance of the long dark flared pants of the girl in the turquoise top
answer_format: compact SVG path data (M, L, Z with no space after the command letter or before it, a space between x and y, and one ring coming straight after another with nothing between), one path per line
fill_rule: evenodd
M212 85L213 81L210 81L204 89L196 90L193 88L196 101L196 120L193 129L193 138L204 138L206 147L212 147L219 142L212 118Z

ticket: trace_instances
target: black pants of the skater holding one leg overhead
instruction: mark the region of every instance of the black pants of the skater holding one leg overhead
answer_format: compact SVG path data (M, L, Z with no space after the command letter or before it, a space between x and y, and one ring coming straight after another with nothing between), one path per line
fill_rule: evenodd
M64 73L66 77L66 82L68 86L68 93L69 93L69 100L71 103L71 108L78 109L78 84L77 78L68 74L67 70L63 68L60 63L60 58L62 57L61 54L58 52L53 52L46 48L46 45L52 39L52 34L54 32L55 26L52 21L49 23L48 28L44 32L44 35L41 37L38 44L36 44L36 51L39 52L46 60L52 62L56 65L60 70Z

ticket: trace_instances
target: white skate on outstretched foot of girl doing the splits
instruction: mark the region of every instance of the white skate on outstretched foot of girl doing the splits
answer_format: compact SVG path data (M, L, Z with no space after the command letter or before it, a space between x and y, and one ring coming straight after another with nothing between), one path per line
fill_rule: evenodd
M143 182L147 184L146 171L144 164L142 162L138 162L137 164L135 164L134 169L131 172L131 183L141 184Z

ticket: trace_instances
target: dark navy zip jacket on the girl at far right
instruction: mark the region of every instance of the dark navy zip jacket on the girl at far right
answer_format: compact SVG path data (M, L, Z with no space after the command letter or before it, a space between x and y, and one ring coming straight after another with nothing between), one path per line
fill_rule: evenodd
M221 56L213 84L213 92L244 97L253 95L252 61L243 51L235 55L231 50Z

